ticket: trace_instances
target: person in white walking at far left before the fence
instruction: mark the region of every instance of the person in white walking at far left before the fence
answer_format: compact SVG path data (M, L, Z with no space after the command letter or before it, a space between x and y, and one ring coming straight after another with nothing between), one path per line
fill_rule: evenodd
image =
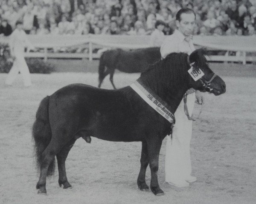
M23 77L24 85L28 87L31 85L31 79L29 68L24 58L24 48L25 46L27 46L28 49L33 49L34 47L28 41L25 31L23 31L22 21L16 22L16 29L11 34L9 46L10 54L14 59L14 62L9 74L7 75L5 83L6 85L12 85L12 82L20 72Z

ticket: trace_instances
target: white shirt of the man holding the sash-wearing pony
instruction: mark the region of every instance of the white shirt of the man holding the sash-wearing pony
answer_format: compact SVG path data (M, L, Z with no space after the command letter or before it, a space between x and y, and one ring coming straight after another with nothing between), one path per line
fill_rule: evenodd
M178 30L175 30L172 35L166 37L163 41L160 53L162 58L173 52L184 52L191 54L195 50L192 39L186 40L185 36Z

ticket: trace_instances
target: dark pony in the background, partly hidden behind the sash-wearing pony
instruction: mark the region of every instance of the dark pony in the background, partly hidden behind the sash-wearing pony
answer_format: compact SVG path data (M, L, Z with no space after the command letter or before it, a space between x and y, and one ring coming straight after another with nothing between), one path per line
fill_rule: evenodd
M160 48L141 48L132 51L122 49L108 50L102 53L99 59L99 88L104 78L110 74L110 81L113 88L113 75L115 69L126 73L138 73L145 71L149 65L161 59Z

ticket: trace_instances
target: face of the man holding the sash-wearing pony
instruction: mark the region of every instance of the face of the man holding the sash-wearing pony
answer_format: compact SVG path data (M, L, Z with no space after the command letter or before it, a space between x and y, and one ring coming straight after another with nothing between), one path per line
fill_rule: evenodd
M180 21L176 20L176 26L185 37L190 36L195 27L195 15L193 13L181 14Z

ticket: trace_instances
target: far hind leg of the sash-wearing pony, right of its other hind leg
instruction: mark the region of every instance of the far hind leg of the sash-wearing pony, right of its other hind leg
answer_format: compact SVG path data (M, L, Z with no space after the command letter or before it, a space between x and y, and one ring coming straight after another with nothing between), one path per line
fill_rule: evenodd
M62 149L61 151L56 155L57 162L58 162L58 173L59 173L59 179L58 183L59 186L63 185L63 188L69 188L71 187L70 183L67 181L67 174L66 174L66 167L65 167L65 161L67 159L67 155L70 151L70 149L73 147L74 143L76 142L76 139L71 139Z

